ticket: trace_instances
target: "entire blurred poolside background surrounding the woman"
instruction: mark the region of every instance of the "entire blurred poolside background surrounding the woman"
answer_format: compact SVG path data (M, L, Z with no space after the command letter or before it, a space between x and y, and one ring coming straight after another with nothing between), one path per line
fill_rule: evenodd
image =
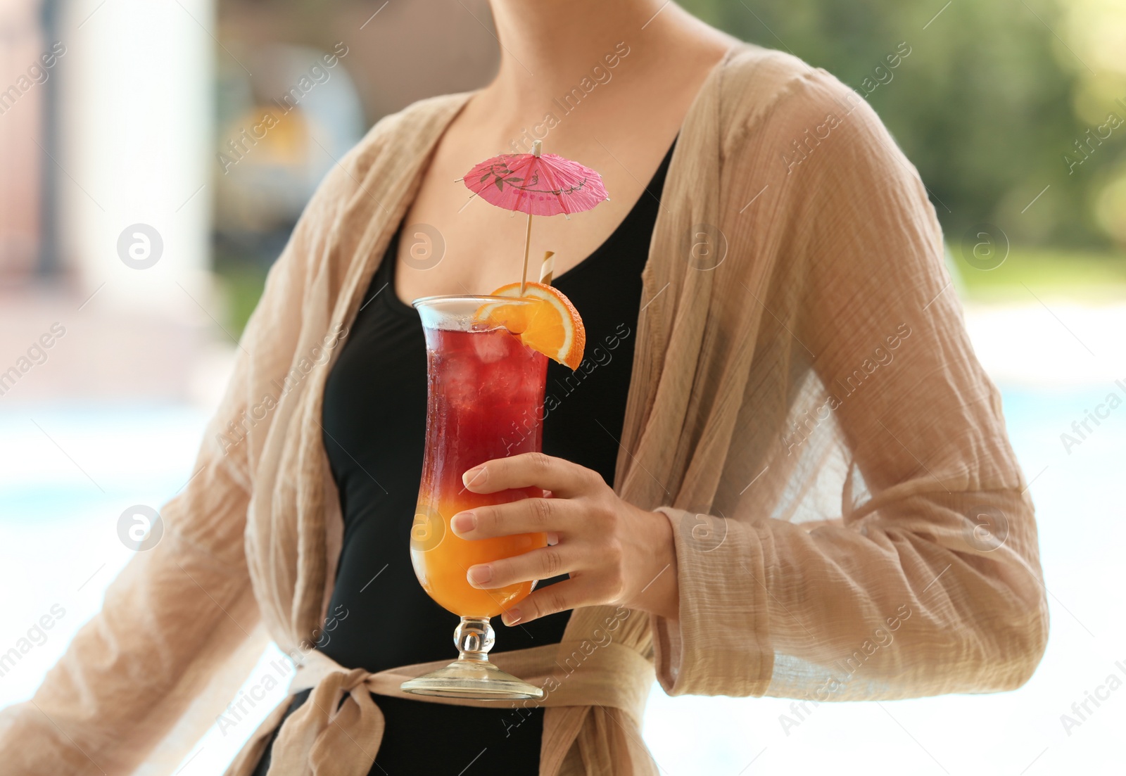
M1126 5L683 6L860 89L919 168L1031 481L1053 630L1002 695L803 715L654 688L662 773L1120 774L1126 409L1097 408L1126 391ZM0 706L100 607L132 553L120 518L191 475L321 177L382 116L497 62L485 0L0 0L0 652L20 645ZM221 773L256 724L213 729L180 773Z

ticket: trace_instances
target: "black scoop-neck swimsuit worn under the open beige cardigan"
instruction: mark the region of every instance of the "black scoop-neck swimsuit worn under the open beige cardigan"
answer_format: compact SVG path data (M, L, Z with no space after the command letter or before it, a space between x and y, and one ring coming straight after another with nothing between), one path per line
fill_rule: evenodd
M671 155L670 148L614 233L553 283L582 314L587 349L574 373L548 362L543 449L610 483L633 367L641 273ZM418 313L394 292L397 247L399 234L329 374L322 419L345 534L329 604L334 625L318 649L341 666L373 672L457 657L458 617L427 596L408 554L422 471L427 356ZM563 579L566 574L538 587ZM570 614L513 627L495 618L494 652L558 643ZM297 694L287 715L307 697L309 690ZM543 710L513 716L509 704L477 708L388 696L376 702L386 728L372 774L538 773ZM256 776L265 776L269 759L267 747Z

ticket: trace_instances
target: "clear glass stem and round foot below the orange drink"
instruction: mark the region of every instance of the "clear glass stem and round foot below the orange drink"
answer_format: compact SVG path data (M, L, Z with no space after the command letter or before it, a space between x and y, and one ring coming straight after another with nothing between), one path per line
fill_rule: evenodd
M400 687L414 695L437 695L444 698L506 701L544 697L535 685L517 679L489 662L494 641L489 617L462 617L454 631L454 644L461 657L445 668L404 681Z

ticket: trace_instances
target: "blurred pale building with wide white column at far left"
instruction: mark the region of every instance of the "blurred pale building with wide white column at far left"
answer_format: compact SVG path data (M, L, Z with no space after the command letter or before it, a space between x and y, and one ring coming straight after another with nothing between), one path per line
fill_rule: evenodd
M211 0L0 9L2 400L185 398L215 303Z

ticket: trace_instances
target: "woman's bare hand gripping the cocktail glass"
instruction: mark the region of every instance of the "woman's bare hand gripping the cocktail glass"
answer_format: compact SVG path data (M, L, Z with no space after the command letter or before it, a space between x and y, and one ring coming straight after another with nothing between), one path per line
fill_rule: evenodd
M539 532L557 539L467 570L470 585L482 589L571 574L504 612L506 625L598 604L677 618L677 556L664 515L623 501L597 472L540 453L489 461L465 472L462 481L474 493L529 487L551 491L551 498L476 507L450 520L454 533L466 539Z

